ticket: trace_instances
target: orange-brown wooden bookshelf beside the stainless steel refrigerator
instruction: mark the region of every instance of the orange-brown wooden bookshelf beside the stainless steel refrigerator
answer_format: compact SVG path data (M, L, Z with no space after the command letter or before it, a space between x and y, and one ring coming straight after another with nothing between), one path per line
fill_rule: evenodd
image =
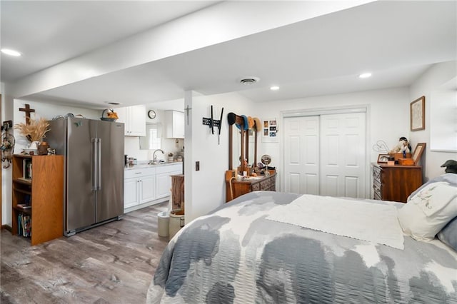
M31 172L24 177L24 166ZM13 157L12 232L18 234L20 214L31 217L31 245L59 238L64 232L64 156ZM31 208L20 208L29 204Z

